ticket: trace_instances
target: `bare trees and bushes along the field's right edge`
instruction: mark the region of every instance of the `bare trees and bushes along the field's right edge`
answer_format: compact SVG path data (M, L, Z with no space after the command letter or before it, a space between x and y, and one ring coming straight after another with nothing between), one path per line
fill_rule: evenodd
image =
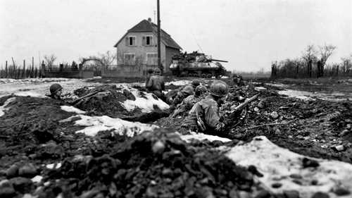
M321 78L352 76L352 54L341 58L341 63L327 64L336 47L308 45L299 58L275 61L271 66L271 78Z

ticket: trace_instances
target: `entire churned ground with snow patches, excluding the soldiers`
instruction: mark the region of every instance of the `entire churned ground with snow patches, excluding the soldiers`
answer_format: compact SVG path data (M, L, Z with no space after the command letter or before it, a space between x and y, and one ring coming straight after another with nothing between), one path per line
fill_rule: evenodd
M53 82L99 94L71 106L45 97ZM143 82L1 79L0 197L352 197L352 82L305 83L232 89L260 96L219 137L182 130Z

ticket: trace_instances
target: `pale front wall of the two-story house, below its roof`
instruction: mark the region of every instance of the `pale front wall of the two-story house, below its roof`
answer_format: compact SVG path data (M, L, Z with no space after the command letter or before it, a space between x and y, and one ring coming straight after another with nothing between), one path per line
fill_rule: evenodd
M127 46L126 37L136 37L136 46ZM153 36L152 46L143 46L142 39L144 36ZM157 37L153 32L129 32L122 38L117 46L118 65L124 63L123 57L125 53L134 53L137 64L146 64L146 53L157 53ZM165 44L161 43L161 63L165 66Z

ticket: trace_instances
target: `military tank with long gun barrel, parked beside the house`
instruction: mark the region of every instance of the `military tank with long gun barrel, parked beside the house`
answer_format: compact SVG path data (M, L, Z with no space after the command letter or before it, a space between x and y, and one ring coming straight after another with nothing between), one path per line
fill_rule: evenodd
M170 70L172 75L179 77L220 78L228 74L220 62L227 63L198 51L191 54L184 52L172 56Z

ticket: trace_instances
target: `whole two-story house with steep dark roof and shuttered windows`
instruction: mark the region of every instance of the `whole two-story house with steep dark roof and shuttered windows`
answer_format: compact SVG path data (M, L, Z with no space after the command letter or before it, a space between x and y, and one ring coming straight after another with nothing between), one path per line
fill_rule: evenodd
M118 65L158 65L158 26L148 20L142 20L128 30L115 44ZM169 71L171 57L180 54L180 45L168 33L161 30L161 63L164 72Z

